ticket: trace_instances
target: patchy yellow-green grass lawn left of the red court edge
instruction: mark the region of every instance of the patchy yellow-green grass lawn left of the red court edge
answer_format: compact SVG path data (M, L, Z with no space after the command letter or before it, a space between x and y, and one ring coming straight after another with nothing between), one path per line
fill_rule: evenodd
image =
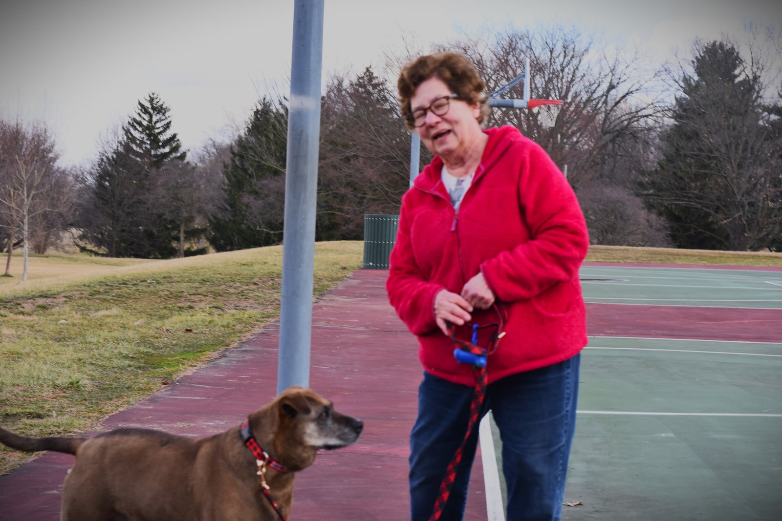
M319 243L314 294L361 266L361 241ZM0 426L90 430L278 319L282 247L167 261L30 256L0 277ZM0 473L30 459L0 448Z

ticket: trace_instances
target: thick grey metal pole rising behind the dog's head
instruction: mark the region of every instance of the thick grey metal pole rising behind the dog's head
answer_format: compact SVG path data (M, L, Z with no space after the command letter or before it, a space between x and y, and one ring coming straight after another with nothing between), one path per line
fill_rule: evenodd
M296 0L293 8L278 394L292 385L310 385L323 3Z

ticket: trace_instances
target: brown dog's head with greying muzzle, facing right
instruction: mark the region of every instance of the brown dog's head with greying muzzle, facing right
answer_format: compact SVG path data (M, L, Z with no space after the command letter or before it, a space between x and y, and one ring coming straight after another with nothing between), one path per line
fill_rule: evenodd
M271 433L264 433L264 429L269 430L273 424L274 451L291 469L311 465L320 449L332 450L353 444L364 429L361 420L336 412L331 401L303 387L282 391L259 414L257 426L253 422L254 415L250 417L256 437L259 441L262 437L268 439Z

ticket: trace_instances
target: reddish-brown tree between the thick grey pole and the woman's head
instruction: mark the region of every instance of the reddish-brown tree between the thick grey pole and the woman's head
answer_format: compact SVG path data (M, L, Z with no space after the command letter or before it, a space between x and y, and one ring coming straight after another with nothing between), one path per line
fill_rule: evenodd
M321 108L317 234L360 239L364 213L396 213L409 184L410 135L371 67L332 76Z

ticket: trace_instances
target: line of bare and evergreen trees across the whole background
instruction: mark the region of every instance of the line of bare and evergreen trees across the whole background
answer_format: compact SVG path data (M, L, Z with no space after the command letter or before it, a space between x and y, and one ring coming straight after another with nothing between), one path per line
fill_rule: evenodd
M768 37L778 52L778 34ZM533 98L565 104L553 124L515 109L493 109L489 124L518 127L567 173L593 244L782 248L782 71L756 41L698 41L687 59L656 73L637 54L609 52L564 27L465 37L432 50L467 55L489 92L529 57ZM398 212L411 140L393 81L420 52L386 56L383 70L328 77L316 240L361 240L365 213ZM522 86L504 96L522 98ZM97 159L69 170L58 166L45 125L0 120L6 273L13 248L42 253L66 231L82 251L111 257L281 243L287 123L287 100L267 95L229 143L185 151L170 109L152 92L103 139Z

